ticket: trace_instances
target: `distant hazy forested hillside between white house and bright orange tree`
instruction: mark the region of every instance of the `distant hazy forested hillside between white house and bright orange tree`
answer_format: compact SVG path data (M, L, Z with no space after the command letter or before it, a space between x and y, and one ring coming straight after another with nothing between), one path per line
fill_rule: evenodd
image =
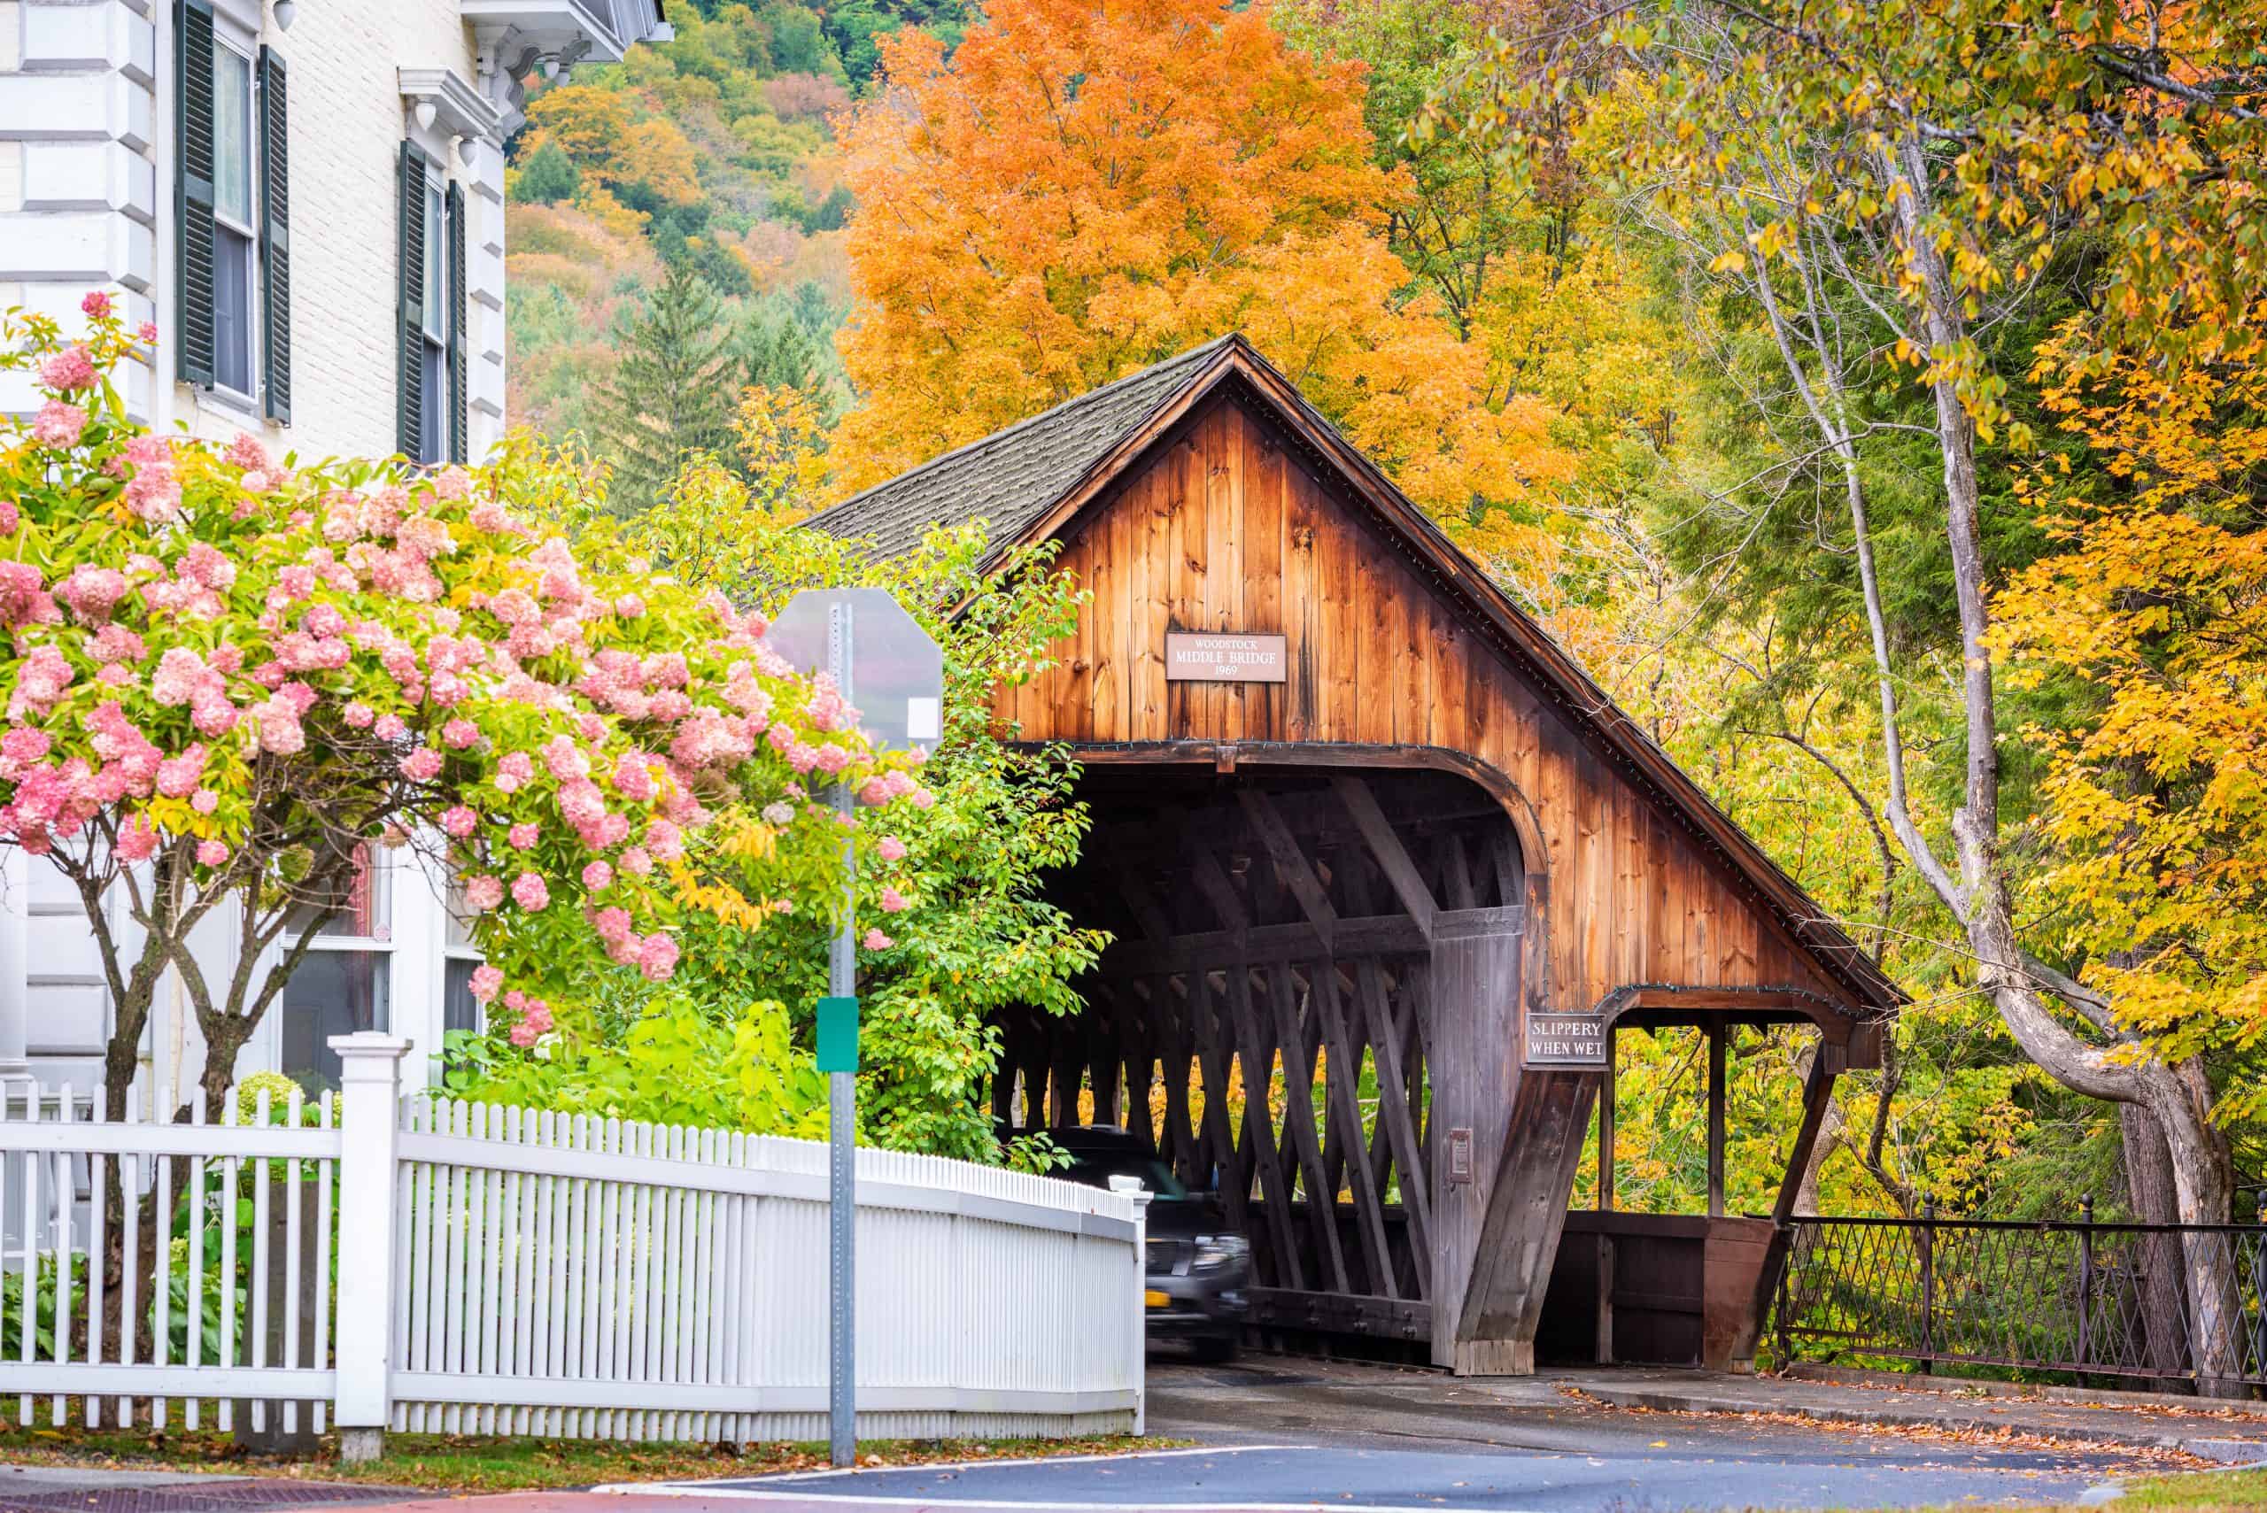
M698 274L735 378L846 399L850 190L827 125L875 36L952 36L957 0L671 7L676 41L530 91L508 172L512 419L598 437L664 267ZM737 387L737 383L732 385Z

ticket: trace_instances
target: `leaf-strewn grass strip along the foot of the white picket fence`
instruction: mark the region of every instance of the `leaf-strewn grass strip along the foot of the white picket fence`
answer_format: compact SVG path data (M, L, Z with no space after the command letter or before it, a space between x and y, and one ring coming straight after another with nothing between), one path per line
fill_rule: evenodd
M1168 1450L1186 1441L1113 1434L1077 1441L859 1441L861 1465L923 1465L929 1461L988 1461L1056 1454L1127 1454ZM544 1441L456 1434L388 1434L385 1456L360 1465L338 1459L338 1438L324 1436L313 1456L254 1456L218 1431L172 1429L7 1429L0 1461L18 1465L86 1465L102 1470L190 1470L295 1481L370 1481L444 1493L512 1493L592 1486L598 1481L673 1481L701 1477L762 1477L827 1465L823 1443L719 1445Z

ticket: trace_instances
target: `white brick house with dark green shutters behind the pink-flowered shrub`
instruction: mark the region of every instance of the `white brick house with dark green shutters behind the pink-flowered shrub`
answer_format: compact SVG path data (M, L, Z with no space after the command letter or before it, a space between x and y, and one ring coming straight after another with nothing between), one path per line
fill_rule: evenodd
M73 331L107 288L154 322L120 387L159 430L478 458L503 430L521 84L662 36L660 0L0 0L0 308ZM0 410L29 408L27 376L0 374ZM77 895L0 856L0 1080L100 1087L109 1003ZM322 1078L324 1037L349 1028L410 1035L422 1071L469 1022L469 956L406 852L374 861L322 947L243 1071ZM215 965L229 951L215 931ZM175 1108L202 1062L170 994L145 1108Z

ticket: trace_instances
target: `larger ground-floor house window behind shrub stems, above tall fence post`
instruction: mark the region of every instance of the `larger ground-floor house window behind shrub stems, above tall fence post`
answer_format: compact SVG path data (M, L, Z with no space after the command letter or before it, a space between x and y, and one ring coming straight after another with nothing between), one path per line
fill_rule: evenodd
M360 847L338 892L306 904L299 922L302 929L313 924L313 940L277 1006L283 1017L281 1069L317 1092L338 1087L331 1035L383 1031L392 1022L392 870Z

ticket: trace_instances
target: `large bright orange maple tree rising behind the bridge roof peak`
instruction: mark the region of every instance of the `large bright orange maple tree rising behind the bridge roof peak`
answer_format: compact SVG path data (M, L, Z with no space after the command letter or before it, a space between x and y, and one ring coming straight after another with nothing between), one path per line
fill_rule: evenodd
M1492 399L1487 353L1410 297L1360 68L1292 52L1263 5L1000 0L950 61L918 32L880 48L843 122L868 399L837 485L1238 328L1489 546L1571 476L1551 405Z

